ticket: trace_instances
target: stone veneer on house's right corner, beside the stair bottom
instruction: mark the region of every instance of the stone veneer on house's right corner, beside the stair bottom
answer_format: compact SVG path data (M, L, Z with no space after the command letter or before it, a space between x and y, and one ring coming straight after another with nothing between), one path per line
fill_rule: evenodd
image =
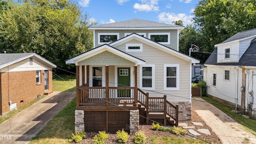
M191 120L191 102L171 102L174 106L179 105L179 120L178 121L190 121Z

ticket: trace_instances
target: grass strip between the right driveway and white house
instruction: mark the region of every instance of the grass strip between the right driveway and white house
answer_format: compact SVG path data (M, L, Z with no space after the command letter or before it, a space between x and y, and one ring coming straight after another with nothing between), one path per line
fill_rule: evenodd
M250 132L254 136L256 136L256 120L253 120L251 118L244 118L242 115L232 112L231 111L232 108L229 108L229 107L223 106L223 105L219 105L220 104L219 102L217 102L216 100L213 100L211 98L202 97L202 99L206 100L207 102L216 103L216 104L212 104L212 105L214 105L216 108L220 109L222 112L224 112L225 114L230 116L233 120L235 120L236 122L238 122L239 124L244 126L244 128L248 132Z

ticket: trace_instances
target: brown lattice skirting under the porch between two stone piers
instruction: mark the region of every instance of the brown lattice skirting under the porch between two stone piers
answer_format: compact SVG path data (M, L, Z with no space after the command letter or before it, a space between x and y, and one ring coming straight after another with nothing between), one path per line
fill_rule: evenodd
M108 133L116 133L118 130L130 132L130 112L84 112L85 132L99 132L105 130Z

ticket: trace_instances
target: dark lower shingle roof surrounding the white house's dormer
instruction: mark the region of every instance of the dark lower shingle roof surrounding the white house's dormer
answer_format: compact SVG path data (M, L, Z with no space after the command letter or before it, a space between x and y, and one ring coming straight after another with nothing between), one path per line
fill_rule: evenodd
M214 48L214 51L204 64L218 66L256 66L256 39L252 40L250 46L244 52L239 62L217 63L217 48Z

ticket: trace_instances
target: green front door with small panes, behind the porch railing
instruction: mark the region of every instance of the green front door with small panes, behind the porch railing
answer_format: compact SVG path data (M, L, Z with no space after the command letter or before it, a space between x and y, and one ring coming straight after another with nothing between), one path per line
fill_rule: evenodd
M130 87L130 68L117 68L118 87ZM117 90L118 97L130 97L131 90Z

